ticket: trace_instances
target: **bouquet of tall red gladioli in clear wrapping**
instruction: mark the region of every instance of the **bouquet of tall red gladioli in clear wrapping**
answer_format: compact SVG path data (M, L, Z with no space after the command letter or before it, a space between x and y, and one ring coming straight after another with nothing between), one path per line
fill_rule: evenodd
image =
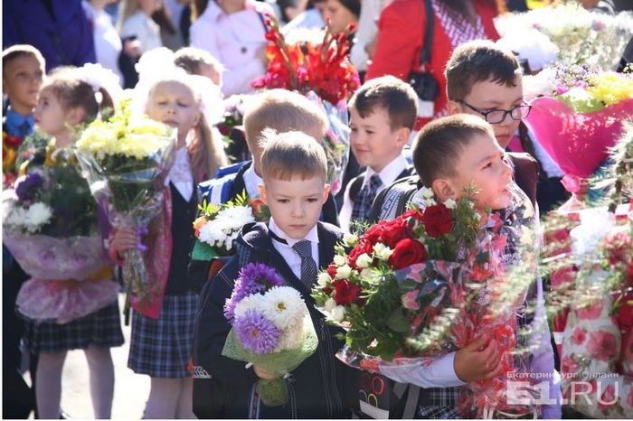
M287 42L274 18L270 17L266 25L269 67L264 76L253 80L252 86L298 90L324 108L329 122L323 139L328 162L327 182L336 193L341 188L349 157L346 100L360 86L358 72L349 61L348 36L354 27L335 34L326 24L326 32L319 41L310 37L309 41Z

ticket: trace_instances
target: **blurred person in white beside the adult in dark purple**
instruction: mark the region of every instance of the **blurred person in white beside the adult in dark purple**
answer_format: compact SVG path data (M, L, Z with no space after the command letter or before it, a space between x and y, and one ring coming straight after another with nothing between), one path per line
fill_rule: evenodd
M118 82L123 85L123 73L118 68L118 56L123 44L110 15L105 11L107 5L116 3L118 0L84 0L83 10L92 26L97 61L106 69L114 71Z

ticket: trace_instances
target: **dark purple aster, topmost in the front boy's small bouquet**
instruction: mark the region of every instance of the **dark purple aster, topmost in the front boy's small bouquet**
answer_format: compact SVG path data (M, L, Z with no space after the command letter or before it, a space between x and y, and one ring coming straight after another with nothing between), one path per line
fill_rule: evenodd
M285 285L277 271L263 263L249 263L241 268L231 298L224 304L224 317L231 321L235 306L248 295L263 294L273 286Z

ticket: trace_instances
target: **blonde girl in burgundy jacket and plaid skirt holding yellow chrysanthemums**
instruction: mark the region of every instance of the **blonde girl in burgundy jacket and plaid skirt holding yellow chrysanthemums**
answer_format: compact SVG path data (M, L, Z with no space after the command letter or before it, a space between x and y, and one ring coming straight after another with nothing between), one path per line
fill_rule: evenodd
M157 80L141 80L137 87L137 94L146 98L146 114L177 128L175 163L165 180L163 213L150 224L148 237L141 239L148 247L150 278L161 293L151 304L135 307L132 315L128 367L151 378L147 418L194 416L188 363L198 295L188 282L187 264L194 245L195 185L227 162L204 114L208 108L203 107L201 93L210 90L201 88L201 83L212 85L210 80L174 69ZM211 99L222 103L219 97ZM110 253L120 259L126 250L137 248L138 242L135 230L118 229Z

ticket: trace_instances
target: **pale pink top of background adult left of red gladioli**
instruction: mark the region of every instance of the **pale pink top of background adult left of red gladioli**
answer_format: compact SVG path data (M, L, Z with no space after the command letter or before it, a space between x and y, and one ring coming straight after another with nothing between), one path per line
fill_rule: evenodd
M222 92L225 97L253 91L250 82L266 73L257 56L267 41L260 14L272 14L270 5L246 0L240 12L224 14L209 2L204 13L191 25L191 45L211 52L224 65Z

